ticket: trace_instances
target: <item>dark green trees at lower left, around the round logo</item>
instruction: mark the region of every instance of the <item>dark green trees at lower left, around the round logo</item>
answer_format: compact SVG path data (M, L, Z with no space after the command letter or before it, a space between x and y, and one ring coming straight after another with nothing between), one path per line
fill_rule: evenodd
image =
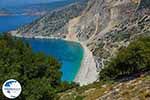
M19 80L22 93L16 100L52 100L75 84L61 81L60 63L51 56L33 53L20 39L0 36L0 88L8 79ZM0 100L8 100L0 91Z

